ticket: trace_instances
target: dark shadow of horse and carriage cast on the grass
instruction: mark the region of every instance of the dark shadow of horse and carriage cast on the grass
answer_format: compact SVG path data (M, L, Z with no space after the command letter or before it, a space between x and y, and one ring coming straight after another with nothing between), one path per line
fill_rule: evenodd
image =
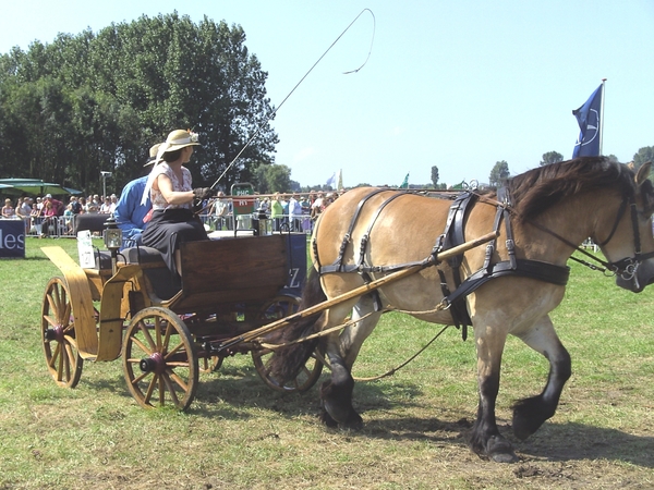
M323 373L316 385L304 393L282 393L268 388L253 366L223 366L219 372L201 373L195 402L187 414L245 421L257 417L252 411L256 407L257 411L269 411L287 419L314 417L319 413L318 387L326 379L328 375ZM124 397L128 405L136 404L122 375L83 382L90 390ZM354 392L354 406L363 415L364 427L359 432L343 431L343 437L447 443L468 451L473 414L447 411L441 419L401 415L414 408L435 415L444 414L443 408L424 403L422 394L423 390L413 383L359 383ZM377 414L384 414L383 418L375 418ZM522 458L553 462L607 460L654 468L654 437L578 422L546 422L526 441L514 439L509 424L502 425L500 431Z

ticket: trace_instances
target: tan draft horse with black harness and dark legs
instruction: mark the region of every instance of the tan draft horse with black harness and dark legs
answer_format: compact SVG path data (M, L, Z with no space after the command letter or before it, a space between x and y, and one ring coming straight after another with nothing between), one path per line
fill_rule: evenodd
M282 332L305 336L362 319L319 341L278 351L271 370L292 379L320 342L331 379L320 388L323 421L358 429L352 407L352 365L375 328L382 309L415 311L441 324L471 324L477 356L479 409L470 446L496 462L518 460L496 424L502 350L508 334L521 339L549 362L542 393L513 406L512 429L523 440L552 417L571 375L570 356L549 311L564 298L566 262L585 238L600 245L619 286L642 291L654 280L651 164L633 172L605 158L580 158L530 170L497 192L464 193L452 201L391 189L356 188L320 216L312 238L314 270L301 305L331 299L402 267L425 264L419 272L347 301ZM485 247L459 260L427 266L425 257L497 230ZM435 310L445 302L448 309Z

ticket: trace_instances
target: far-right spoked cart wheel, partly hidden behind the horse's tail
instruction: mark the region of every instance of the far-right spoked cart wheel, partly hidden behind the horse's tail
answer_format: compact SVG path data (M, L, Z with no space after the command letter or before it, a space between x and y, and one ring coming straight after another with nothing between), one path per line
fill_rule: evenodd
M271 323L280 318L288 317L298 311L300 298L295 296L278 296L270 301L262 308L262 319ZM300 370L298 377L291 381L282 383L281 380L275 379L270 375L270 362L276 356L275 351L269 348L261 348L252 351L252 359L256 372L261 376L264 382L276 391L283 392L303 392L313 387L323 371L323 363L318 360L315 354L308 358L306 364Z

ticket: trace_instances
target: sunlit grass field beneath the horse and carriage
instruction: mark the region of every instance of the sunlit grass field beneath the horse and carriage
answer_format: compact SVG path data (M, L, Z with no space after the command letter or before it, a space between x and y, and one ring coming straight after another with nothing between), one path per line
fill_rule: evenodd
M120 360L86 363L76 389L58 388L39 338L43 291L59 275L39 246L53 244L76 257L72 240L28 238L25 260L0 261L0 489L654 488L654 290L628 293L571 262L553 319L572 378L557 414L516 441L510 405L541 391L547 365L509 340L497 414L521 461L499 465L465 443L475 355L455 329L395 376L356 385L360 432L324 428L317 388L272 392L249 356L202 373L186 413L141 408ZM437 329L386 315L355 376L395 367Z

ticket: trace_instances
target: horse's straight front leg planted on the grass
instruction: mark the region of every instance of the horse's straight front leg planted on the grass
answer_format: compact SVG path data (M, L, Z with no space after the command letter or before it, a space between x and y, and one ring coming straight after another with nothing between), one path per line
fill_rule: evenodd
M497 428L495 402L499 391L501 354L507 334L504 330L491 326L474 327L477 352L477 382L480 405L477 418L472 428L470 448L481 456L487 456L497 463L513 463L518 456L511 443Z

